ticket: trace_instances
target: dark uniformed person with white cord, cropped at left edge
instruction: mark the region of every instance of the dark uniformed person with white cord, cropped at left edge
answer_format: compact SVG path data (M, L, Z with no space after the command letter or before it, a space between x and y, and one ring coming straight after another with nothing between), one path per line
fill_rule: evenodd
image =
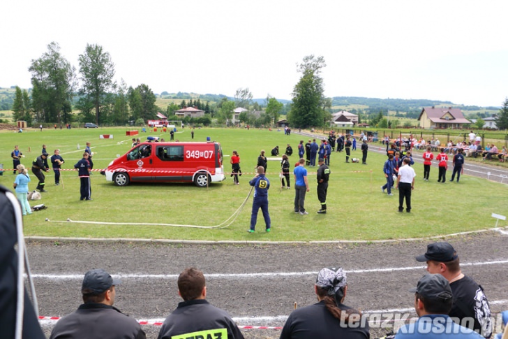
M20 203L14 194L0 186L0 329L1 338L17 338L16 331L20 331L23 339L45 339L43 330L37 319L33 305L27 291L19 291L18 270L24 260L24 243L15 245L17 239L24 239L22 232ZM19 227L16 227L19 226ZM21 277L23 279L23 277ZM24 286L24 285L22 285ZM21 294L20 294L21 292ZM19 294L19 295L18 295ZM22 298L22 304L17 304L17 298ZM17 329L17 313L22 312L18 320L21 324Z

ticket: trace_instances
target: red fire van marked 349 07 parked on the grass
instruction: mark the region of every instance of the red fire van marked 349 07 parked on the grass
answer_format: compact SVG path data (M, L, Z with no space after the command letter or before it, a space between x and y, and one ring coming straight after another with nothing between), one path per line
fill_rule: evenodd
M130 182L194 182L206 187L225 180L220 143L146 142L114 159L100 172L118 186Z

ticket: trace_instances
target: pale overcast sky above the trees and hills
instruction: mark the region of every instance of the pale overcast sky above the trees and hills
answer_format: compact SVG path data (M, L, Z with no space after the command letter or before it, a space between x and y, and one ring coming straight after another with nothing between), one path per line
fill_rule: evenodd
M506 1L2 1L0 87L30 87L55 41L78 68L87 43L117 80L160 93L291 99L296 64L322 55L327 96L501 106Z

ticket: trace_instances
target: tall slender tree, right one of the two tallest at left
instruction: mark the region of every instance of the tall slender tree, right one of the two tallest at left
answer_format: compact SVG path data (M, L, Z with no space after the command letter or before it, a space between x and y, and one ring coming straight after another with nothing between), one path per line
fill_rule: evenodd
M114 64L110 53L104 52L100 45L89 45L84 54L79 56L82 87L80 94L87 101L94 104L96 124L100 122L100 108L107 99L107 94L112 92L116 83L114 77Z

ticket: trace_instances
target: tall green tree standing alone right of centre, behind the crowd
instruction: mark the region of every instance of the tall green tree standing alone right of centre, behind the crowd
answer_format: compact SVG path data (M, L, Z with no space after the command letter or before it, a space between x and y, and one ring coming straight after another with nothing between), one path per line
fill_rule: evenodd
M323 101L323 80L320 76L321 68L327 66L324 57L309 55L304 57L297 71L301 78L294 86L292 93L292 106L288 120L293 127L322 126L324 111L321 108Z

